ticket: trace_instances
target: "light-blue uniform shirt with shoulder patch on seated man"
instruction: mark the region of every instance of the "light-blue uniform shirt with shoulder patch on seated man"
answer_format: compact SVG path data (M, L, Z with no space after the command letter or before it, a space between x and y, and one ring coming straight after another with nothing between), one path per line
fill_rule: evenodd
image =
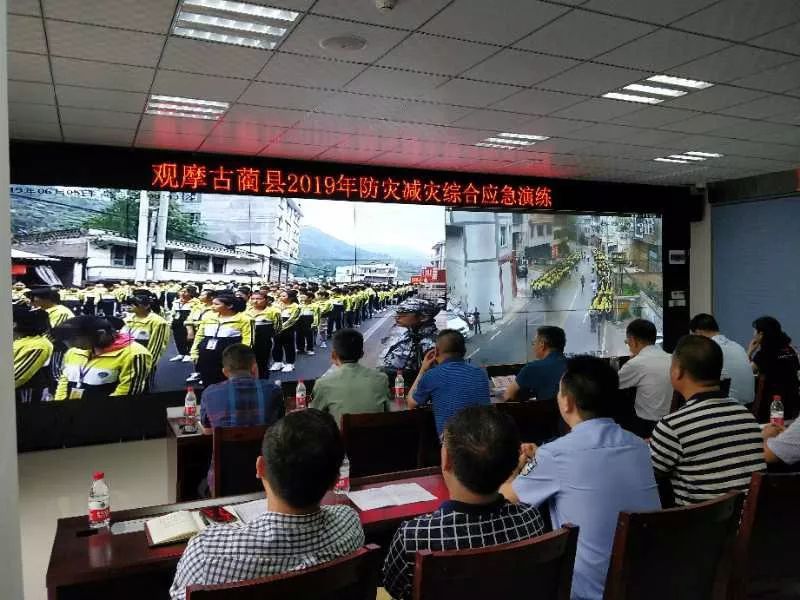
M602 600L619 513L661 509L650 450L613 420L590 419L540 447L534 462L514 492L533 506L547 502L554 528L580 527L572 599Z

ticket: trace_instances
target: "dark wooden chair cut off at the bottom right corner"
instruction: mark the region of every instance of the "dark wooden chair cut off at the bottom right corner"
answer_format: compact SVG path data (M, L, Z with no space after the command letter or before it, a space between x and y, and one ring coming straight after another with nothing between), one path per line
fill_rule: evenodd
M800 591L800 474L753 473L736 540L731 600ZM796 596L795 596L796 597Z

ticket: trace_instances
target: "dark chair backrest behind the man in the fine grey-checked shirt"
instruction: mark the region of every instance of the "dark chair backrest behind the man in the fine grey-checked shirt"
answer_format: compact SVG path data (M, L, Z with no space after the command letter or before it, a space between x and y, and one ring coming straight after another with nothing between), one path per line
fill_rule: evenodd
M300 571L222 585L191 585L186 600L375 600L380 569L380 548L370 544Z

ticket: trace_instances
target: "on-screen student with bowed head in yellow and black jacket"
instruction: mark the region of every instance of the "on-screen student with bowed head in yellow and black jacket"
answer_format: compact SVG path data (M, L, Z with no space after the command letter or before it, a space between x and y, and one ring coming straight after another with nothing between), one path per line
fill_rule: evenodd
M136 396L147 389L150 351L128 334L117 333L108 320L83 315L53 333L72 346L64 356L56 400Z

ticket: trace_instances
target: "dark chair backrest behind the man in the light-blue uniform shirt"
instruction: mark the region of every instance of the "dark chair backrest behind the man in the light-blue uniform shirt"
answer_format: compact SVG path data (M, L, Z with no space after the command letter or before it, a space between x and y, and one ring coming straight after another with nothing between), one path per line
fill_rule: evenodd
M744 494L620 513L605 600L724 600Z

